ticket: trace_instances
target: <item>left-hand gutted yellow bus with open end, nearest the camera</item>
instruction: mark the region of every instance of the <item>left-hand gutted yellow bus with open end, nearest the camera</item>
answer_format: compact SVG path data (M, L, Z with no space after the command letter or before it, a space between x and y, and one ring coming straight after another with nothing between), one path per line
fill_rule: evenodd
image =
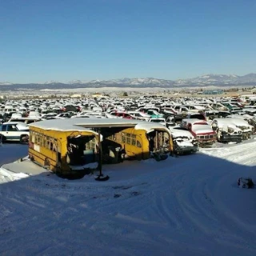
M30 159L58 174L96 168L98 134L74 123L75 118L30 124Z

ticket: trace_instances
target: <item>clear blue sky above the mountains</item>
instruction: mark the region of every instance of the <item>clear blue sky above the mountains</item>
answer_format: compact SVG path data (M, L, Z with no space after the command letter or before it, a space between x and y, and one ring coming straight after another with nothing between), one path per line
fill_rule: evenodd
M255 13L254 0L2 0L0 82L254 73Z

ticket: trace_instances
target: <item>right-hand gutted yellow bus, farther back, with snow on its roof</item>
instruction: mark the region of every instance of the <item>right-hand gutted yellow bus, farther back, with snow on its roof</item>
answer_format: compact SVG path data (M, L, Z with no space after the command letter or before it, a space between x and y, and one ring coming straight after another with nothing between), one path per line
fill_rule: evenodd
M87 118L86 121L78 122L77 125L90 128L97 126L100 129L103 159L114 150L119 150L124 158L138 160L148 159L152 154L162 151L172 153L174 150L170 130L159 123L123 118L98 119L96 122Z

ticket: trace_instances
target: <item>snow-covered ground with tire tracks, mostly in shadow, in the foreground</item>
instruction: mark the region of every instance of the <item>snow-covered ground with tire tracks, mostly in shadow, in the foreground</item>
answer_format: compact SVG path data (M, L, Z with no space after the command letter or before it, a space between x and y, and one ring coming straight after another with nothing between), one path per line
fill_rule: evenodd
M237 186L256 180L255 148L251 140L106 165L106 182L2 167L0 254L255 255L256 190ZM15 149L26 150L0 147L1 162L14 161L10 151L22 157Z

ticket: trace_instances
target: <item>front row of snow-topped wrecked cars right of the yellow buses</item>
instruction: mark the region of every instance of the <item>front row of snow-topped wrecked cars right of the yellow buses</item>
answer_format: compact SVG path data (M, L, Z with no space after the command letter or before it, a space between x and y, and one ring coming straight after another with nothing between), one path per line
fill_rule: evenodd
M198 116L198 114L196 114ZM246 115L230 114L226 118L182 118L169 122L169 129L177 154L192 153L198 147L211 147L218 143L240 143L254 137L256 120Z

